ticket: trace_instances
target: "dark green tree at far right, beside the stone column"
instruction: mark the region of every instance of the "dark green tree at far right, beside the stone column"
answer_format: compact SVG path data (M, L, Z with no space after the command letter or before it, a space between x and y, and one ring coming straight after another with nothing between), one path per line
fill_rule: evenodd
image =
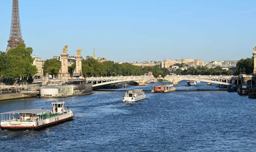
M253 73L253 57L246 58L246 59L240 59L236 63L236 74L241 74L245 72L245 74L252 74ZM245 69L245 71L243 70Z

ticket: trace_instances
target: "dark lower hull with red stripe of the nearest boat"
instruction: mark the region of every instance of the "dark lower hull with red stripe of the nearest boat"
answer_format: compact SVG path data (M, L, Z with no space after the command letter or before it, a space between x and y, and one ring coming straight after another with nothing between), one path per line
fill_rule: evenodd
M70 116L68 118L65 118L65 119L57 120L57 121L54 121L52 123L46 123L46 124L43 124L43 125L40 125L40 126L0 126L0 129L1 130L16 130L16 131L19 131L19 130L40 130L40 129L43 129L43 128L46 128L46 127L57 125L59 123L64 123L66 121L71 121L71 120L73 120L73 117L74 117L74 115Z

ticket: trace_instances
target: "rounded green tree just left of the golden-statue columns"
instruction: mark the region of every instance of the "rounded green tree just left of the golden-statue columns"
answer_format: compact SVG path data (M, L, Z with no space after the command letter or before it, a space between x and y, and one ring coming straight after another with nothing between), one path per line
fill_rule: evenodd
M59 73L59 69L61 67L61 61L57 60L57 59L49 59L46 60L44 62L44 75L46 75L47 73L49 75L58 75Z

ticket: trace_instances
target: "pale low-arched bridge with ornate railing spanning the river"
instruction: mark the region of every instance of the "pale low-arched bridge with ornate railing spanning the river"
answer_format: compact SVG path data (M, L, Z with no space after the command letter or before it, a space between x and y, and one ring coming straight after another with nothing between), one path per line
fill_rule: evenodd
M87 77L85 80L91 82L92 87L98 87L101 85L108 85L113 83L134 81L139 84L144 84L150 80L165 80L172 82L173 85L178 85L182 80L194 80L203 81L208 83L217 83L222 85L229 85L233 81L238 81L238 76L222 76L222 75L167 75L164 78L155 78L154 76L118 76L118 77Z

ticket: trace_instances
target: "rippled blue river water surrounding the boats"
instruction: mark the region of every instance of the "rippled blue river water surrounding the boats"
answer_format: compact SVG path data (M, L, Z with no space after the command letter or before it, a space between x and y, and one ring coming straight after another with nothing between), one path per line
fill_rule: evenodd
M0 131L1 151L255 151L256 99L219 91L216 85L151 93L152 86L95 91L60 98L73 121L38 131ZM147 98L122 102L125 90ZM197 89L200 89L197 91ZM218 91L216 91L218 90ZM51 99L0 102L0 112L52 109Z

